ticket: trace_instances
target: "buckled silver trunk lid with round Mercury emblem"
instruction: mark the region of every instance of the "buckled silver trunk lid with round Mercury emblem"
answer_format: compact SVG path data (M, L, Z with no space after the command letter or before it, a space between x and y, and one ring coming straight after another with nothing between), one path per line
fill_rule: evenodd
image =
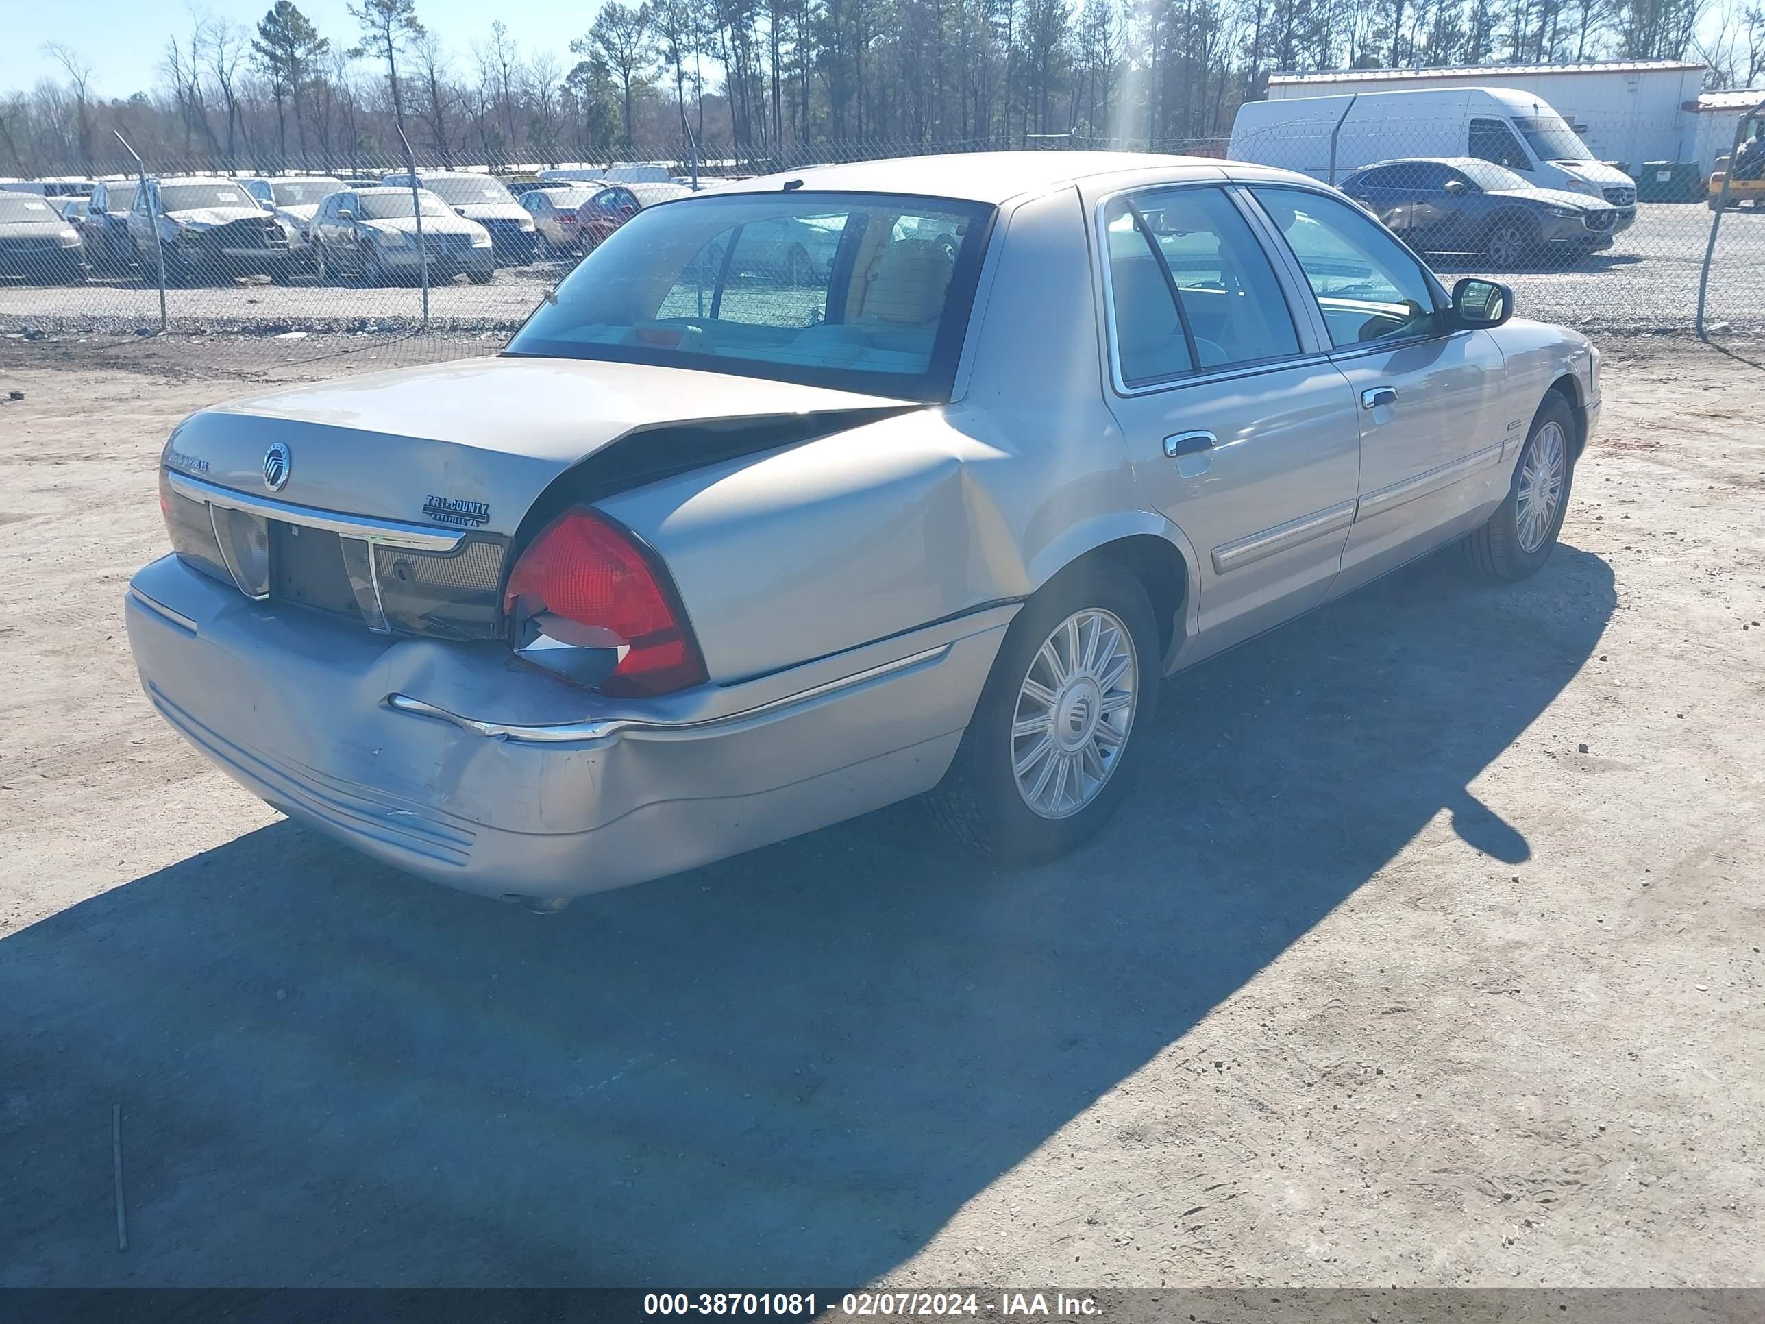
M203 410L164 464L318 510L514 535L565 470L637 427L900 408L785 381L574 358L468 358L337 378ZM265 482L274 443L281 487Z

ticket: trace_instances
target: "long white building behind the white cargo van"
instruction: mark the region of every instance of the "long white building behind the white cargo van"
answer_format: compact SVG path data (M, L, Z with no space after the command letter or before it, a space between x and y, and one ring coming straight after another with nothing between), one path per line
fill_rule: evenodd
M1620 64L1463 65L1456 69L1350 69L1333 74L1274 74L1269 101L1343 92L1410 92L1424 87L1506 87L1548 101L1601 161L1636 168L1645 161L1698 161L1696 104L1705 65L1684 60ZM1728 122L1733 134L1733 120ZM1726 150L1726 148L1724 148ZM1694 152L1698 152L1694 155Z

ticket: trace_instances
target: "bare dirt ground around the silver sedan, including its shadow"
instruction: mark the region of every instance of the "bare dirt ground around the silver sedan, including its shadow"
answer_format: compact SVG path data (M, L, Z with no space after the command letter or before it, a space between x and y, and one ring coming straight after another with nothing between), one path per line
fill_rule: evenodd
M900 805L542 918L129 662L168 429L401 351L7 342L0 1283L1765 1283L1765 360L1603 351L1541 575L1177 678L1077 856Z

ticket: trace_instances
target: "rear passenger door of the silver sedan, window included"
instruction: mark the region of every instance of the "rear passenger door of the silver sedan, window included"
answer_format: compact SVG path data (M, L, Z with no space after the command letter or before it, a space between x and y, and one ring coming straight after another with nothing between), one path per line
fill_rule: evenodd
M1177 185L1101 210L1110 410L1198 561L1184 662L1320 602L1354 519L1354 397L1241 207L1223 187Z

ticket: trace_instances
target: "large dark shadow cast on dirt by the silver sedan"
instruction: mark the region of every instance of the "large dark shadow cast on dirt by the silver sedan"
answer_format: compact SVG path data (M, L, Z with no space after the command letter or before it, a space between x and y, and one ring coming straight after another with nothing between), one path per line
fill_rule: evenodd
M1613 600L1573 547L1414 565L1167 685L1022 874L900 805L552 918L291 823L116 886L0 943L0 1282L881 1275L1435 816L1527 858L1467 786Z

